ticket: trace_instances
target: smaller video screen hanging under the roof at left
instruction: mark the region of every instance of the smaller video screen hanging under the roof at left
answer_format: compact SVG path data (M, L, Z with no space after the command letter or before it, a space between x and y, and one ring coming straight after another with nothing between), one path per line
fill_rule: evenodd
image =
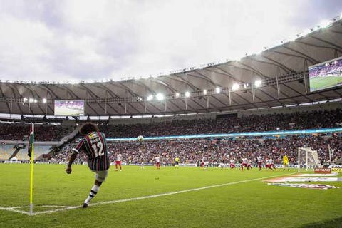
M55 100L55 115L84 115L84 100Z

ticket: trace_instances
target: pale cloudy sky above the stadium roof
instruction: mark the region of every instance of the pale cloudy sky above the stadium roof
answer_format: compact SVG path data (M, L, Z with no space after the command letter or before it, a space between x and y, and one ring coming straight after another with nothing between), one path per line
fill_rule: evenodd
M0 79L155 76L238 59L341 13L341 0L0 0Z

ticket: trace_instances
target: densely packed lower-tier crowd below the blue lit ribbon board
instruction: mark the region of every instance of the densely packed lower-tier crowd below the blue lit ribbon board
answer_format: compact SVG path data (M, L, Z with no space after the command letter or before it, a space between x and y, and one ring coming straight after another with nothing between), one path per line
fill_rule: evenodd
M197 139L197 140L153 140L144 142L113 142L108 143L110 160L115 161L116 155L121 153L123 161L130 164L153 163L157 155L162 163L172 164L175 157L180 157L182 163L197 163L204 158L212 163L229 163L230 160L241 162L246 157L256 162L261 156L281 164L283 155L288 155L290 163L297 163L298 147L311 147L317 150L321 162L328 162L328 145L333 150L335 159L342 157L342 135L294 135L277 139L239 138L227 139ZM54 162L68 160L68 146L62 152L53 156ZM85 162L86 156L79 155L76 162Z

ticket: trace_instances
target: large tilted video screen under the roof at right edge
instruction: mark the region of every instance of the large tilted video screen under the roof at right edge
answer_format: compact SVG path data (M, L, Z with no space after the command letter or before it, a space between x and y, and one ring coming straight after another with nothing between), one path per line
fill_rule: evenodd
M310 91L342 86L342 57L309 67Z

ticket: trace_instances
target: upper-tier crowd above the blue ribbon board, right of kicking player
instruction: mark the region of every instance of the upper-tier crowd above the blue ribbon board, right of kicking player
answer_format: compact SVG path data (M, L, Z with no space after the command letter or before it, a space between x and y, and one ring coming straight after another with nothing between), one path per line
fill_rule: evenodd
M133 125L102 125L108 138L137 137L138 135L196 135L252 131L333 128L342 125L342 110L313 111L274 115L217 118L215 120L174 120L164 123Z

